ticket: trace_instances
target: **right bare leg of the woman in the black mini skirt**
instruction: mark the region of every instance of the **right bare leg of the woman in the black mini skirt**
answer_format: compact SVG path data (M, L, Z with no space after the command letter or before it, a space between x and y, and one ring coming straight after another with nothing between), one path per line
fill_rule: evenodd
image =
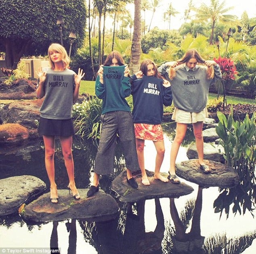
M72 136L68 137L59 137L61 141L62 154L65 161L65 166L67 169L67 175L69 178L68 187L71 189L73 196L76 196L76 199L80 198L78 190L75 184L75 173L74 173L74 161L72 155Z

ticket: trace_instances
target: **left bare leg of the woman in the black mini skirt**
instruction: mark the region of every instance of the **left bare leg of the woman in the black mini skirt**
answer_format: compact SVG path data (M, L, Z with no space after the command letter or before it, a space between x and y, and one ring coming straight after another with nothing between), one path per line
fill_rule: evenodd
M55 153L55 136L43 136L45 147L45 167L50 181L50 198L58 198L57 184L55 182L54 153ZM58 200L52 200L57 203Z

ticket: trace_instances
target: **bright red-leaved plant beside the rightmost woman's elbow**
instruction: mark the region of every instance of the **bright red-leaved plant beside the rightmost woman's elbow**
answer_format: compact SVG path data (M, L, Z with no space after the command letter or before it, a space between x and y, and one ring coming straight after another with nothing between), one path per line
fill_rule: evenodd
M213 60L220 66L222 79L235 79L235 75L237 75L238 72L234 62L230 58L222 58L220 56L218 59L214 58Z

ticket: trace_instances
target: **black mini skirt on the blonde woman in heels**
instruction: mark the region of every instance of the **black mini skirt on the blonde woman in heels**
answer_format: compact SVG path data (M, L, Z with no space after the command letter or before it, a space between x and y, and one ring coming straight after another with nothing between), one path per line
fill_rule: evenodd
M40 117L38 133L44 136L71 136L75 134L73 120L47 119Z

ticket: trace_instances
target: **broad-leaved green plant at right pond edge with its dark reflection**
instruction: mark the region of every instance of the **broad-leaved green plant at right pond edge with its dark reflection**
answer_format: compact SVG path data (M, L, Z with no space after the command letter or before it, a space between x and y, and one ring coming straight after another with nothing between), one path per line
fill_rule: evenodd
M249 118L235 121L233 110L226 117L217 112L219 119L216 132L220 137L219 145L224 148L224 158L228 166L237 172L240 184L231 189L220 189L220 196L214 201L216 211L225 209L227 216L229 207L233 203L233 212L243 214L246 210L253 210L252 204L256 203L256 112ZM252 214L253 215L253 214Z

